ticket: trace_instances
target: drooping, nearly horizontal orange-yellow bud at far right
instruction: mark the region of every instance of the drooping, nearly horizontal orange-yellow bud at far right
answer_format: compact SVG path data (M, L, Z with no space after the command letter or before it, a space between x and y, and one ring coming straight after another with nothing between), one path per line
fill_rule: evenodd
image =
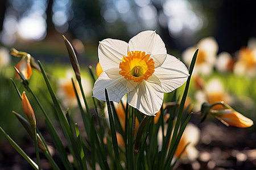
M236 126L238 128L249 128L253 125L253 121L243 116L241 113L233 109L210 110L210 114L218 118L227 126Z

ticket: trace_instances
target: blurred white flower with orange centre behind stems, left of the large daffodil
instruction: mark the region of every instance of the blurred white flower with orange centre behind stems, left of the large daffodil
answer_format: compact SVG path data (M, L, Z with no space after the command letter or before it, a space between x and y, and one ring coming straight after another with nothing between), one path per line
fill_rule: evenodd
M82 99L79 83L74 77L75 76L73 76L73 71L68 70L65 78L60 78L58 80L57 83L59 85L59 88L56 94L57 96L59 96L59 99L61 99L65 107L75 107L77 105L77 99L76 99L75 90L73 88L73 84L71 80L71 78L73 78L82 107L85 107L84 100ZM92 95L92 84L90 83L88 78L82 76L81 81L82 81L82 86L84 89L85 96Z

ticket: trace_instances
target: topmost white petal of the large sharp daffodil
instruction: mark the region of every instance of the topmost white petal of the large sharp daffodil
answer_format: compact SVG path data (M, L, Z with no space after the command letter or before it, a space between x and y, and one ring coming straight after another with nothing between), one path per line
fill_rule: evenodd
M167 53L163 40L155 31L143 31L130 39L129 51L142 51L152 56Z

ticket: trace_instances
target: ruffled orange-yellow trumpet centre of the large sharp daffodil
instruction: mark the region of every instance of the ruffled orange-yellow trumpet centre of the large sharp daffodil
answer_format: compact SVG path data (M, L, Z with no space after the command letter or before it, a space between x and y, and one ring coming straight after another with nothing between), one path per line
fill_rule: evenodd
M155 71L154 59L150 58L150 54L141 51L128 52L127 56L123 56L122 62L119 63L119 74L128 80L141 83L147 80Z

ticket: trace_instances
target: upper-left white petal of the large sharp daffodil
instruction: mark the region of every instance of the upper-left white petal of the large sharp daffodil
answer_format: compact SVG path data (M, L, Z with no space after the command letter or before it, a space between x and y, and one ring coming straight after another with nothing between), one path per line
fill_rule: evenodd
M128 43L121 40L105 39L98 45L98 58L102 70L118 67L123 56L127 56Z

